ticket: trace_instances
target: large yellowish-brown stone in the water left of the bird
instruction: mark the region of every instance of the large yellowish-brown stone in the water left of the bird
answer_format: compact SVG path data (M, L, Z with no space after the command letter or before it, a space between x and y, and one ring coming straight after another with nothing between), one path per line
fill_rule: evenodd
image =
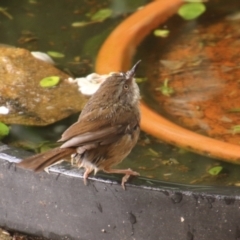
M87 99L70 77L53 65L36 59L21 48L0 48L0 121L6 124L43 126L80 112ZM50 88L40 81L58 76L59 83Z

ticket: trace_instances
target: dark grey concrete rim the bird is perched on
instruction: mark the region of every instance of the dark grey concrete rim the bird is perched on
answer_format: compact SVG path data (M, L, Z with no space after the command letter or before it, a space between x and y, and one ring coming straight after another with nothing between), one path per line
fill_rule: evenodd
M0 145L0 226L50 239L240 239L239 188L192 186L98 174L60 164L17 168L30 155Z

